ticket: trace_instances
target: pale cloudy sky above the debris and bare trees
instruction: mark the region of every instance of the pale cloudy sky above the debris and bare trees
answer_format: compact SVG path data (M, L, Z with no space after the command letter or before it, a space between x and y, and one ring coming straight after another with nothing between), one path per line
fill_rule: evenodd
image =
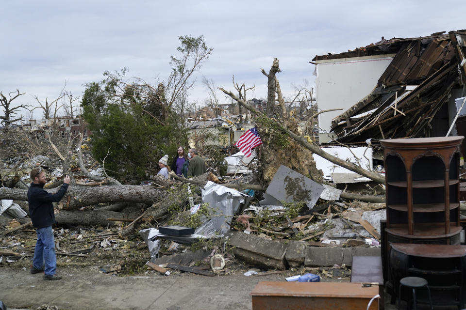
M314 84L316 54L338 53L380 41L466 29L464 1L3 1L0 18L0 91L19 89L17 104L35 105L63 88L81 96L104 71L129 68L155 83L169 73L178 37L203 35L213 53L191 91L207 97L202 77L233 90L256 85L249 98L266 97L273 58L280 60L283 94ZM221 102L225 97L218 92ZM3 111L0 110L0 114ZM36 110L34 117L41 113Z

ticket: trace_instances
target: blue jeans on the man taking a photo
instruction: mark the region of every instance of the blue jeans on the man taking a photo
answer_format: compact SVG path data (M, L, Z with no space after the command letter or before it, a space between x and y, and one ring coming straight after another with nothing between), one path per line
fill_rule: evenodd
M55 256L55 239L51 226L37 228L37 242L35 243L33 267L42 269L48 276L53 276L57 270L57 257Z

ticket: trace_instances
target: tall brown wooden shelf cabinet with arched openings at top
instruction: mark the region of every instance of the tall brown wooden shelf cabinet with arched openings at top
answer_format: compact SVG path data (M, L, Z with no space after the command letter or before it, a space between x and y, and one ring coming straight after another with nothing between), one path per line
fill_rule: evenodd
M459 244L461 137L381 140L387 241Z

